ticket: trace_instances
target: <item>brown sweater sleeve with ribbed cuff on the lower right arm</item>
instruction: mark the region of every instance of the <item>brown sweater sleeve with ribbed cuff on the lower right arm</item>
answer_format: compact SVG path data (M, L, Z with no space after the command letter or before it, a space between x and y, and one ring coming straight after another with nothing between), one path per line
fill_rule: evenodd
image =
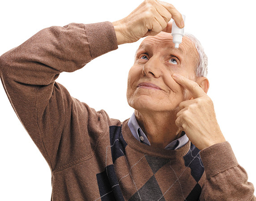
M228 142L200 151L206 180L200 200L256 201L253 184L241 167Z

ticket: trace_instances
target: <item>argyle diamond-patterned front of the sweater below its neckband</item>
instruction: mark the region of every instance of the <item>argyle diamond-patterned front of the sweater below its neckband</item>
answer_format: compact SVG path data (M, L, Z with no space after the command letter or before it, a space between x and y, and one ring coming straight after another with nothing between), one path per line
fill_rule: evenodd
M134 151L127 146L121 131L121 126L110 126L110 145L106 147L105 160L107 167L97 174L98 200L160 201L170 197L174 200L182 197L183 200L195 200L200 196L198 181L204 167L199 150L193 144L183 156L184 162L163 159Z

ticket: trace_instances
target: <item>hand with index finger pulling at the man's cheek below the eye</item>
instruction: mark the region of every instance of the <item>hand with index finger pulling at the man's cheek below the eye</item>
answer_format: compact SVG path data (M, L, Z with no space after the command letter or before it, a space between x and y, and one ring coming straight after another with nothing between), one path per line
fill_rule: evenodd
M185 100L179 104L176 126L184 130L189 140L200 150L225 142L216 119L213 101L209 96L196 82L182 75L173 74L172 77L192 95L192 100Z

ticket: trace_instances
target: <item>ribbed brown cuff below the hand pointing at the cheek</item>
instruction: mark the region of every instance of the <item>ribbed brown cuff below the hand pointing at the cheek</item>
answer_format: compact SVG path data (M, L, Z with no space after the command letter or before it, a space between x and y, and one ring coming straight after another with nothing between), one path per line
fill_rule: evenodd
M206 177L215 176L238 165L229 142L214 144L200 151Z

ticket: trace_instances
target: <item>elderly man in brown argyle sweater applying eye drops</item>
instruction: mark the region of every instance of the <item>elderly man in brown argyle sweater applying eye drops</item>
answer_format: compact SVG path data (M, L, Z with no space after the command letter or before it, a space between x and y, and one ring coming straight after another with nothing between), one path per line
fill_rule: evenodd
M171 18L183 27L171 4L146 0L113 23L43 29L0 57L9 100L51 168L52 200L256 200L206 95L200 43L187 35L175 49ZM55 82L144 36L128 75L130 119Z

